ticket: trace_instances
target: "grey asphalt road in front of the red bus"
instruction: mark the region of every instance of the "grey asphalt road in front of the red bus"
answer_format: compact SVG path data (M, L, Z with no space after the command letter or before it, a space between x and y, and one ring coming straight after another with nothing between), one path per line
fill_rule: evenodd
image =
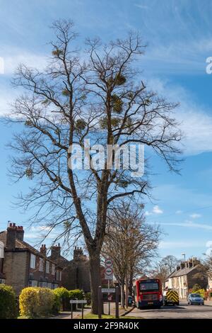
M139 310L135 307L127 316L145 319L212 319L212 306L187 305L185 301L182 301L179 306L163 306L160 309Z

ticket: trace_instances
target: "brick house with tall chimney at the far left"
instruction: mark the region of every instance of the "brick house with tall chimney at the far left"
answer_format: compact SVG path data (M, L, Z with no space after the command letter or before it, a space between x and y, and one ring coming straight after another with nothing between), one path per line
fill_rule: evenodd
M24 230L16 223L8 223L0 232L4 244L4 258L0 259L0 279L13 286L16 294L28 286L57 288L61 286L62 268L47 258L47 248L42 244L40 252L23 240Z

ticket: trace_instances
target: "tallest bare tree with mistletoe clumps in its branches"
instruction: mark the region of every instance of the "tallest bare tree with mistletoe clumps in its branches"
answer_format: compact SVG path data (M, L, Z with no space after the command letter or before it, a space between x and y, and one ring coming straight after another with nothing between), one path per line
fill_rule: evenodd
M25 208L36 208L34 216L57 228L58 237L81 228L90 258L92 311L98 312L100 251L105 237L107 210L117 198L148 194L146 176L136 178L129 170L69 168L69 147L85 138L102 145L151 147L167 166L177 171L181 138L172 117L176 104L148 91L134 60L144 47L139 35L102 45L87 40L87 51L76 47L73 23L53 25L56 40L52 57L43 71L20 65L13 80L23 90L13 106L10 121L25 125L14 136L11 175L33 179L28 195L20 194ZM90 152L91 155L91 152ZM63 226L65 223L65 229Z

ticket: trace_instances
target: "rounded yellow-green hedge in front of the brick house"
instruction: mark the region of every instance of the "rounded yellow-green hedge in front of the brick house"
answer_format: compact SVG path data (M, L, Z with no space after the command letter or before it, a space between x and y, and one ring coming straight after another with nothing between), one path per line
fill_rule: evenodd
M45 317L54 312L54 292L49 288L24 288L19 296L20 315L28 318Z

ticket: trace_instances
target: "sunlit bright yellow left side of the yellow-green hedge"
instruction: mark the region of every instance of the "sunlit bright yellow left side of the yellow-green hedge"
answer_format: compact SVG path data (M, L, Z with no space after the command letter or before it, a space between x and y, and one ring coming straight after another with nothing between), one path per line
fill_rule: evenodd
M39 312L38 288L24 288L19 296L20 315L23 317L34 318Z

